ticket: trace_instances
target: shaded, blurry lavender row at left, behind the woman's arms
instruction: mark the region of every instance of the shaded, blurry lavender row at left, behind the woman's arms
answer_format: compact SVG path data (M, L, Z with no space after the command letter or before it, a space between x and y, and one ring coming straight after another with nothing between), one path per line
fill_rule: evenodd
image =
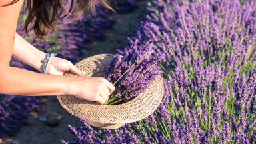
M117 13L130 12L136 7L135 1L123 0L118 3L113 1L113 7L116 7ZM128 5L128 7L124 7ZM128 9L127 9L128 8ZM44 52L58 53L58 57L69 59L73 63L79 59L81 49L85 49L85 44L91 41L104 40L105 29L109 29L115 23L111 11L97 7L97 14L94 16L84 15L81 21L75 21L69 25L59 25L60 30L50 33L44 40L37 39L33 33L26 35L21 31L23 21L19 23L18 33L29 41L32 45ZM17 61L11 60L11 66L20 67L36 71L35 69ZM26 118L29 112L39 108L41 98L38 97L21 97L15 95L0 94L0 137L13 135L21 125L28 124Z

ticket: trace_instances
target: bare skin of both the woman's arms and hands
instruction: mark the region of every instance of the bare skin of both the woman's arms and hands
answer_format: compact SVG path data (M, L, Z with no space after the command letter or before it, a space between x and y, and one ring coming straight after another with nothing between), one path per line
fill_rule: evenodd
M0 93L25 96L74 95L87 101L107 103L109 95L115 90L114 85L101 77L63 76L66 71L76 75L85 74L65 59L51 57L47 75L9 66L13 56L41 71L41 61L45 57L43 51L16 33L24 0L3 7L10 2L0 0Z

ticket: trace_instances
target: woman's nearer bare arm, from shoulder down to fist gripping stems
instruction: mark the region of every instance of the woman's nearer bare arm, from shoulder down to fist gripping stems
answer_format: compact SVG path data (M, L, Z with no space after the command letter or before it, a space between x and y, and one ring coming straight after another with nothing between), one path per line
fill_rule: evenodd
M14 95L75 95L89 101L106 103L115 87L103 78L44 75L9 66L19 12L23 0L0 0L0 93Z

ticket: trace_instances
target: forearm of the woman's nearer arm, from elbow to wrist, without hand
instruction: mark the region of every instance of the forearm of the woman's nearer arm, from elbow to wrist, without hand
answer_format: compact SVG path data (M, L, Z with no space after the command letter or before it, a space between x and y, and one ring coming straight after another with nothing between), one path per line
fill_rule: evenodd
M1 71L0 79L0 93L41 96L71 94L72 81L75 77L44 75L17 67L8 67Z

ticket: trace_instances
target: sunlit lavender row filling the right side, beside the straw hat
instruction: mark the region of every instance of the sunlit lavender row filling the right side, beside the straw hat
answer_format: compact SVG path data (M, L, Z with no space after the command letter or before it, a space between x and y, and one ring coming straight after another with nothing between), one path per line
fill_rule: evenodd
M161 105L118 130L81 120L69 125L75 141L63 143L255 143L256 1L153 0L148 10L130 40L161 55Z

